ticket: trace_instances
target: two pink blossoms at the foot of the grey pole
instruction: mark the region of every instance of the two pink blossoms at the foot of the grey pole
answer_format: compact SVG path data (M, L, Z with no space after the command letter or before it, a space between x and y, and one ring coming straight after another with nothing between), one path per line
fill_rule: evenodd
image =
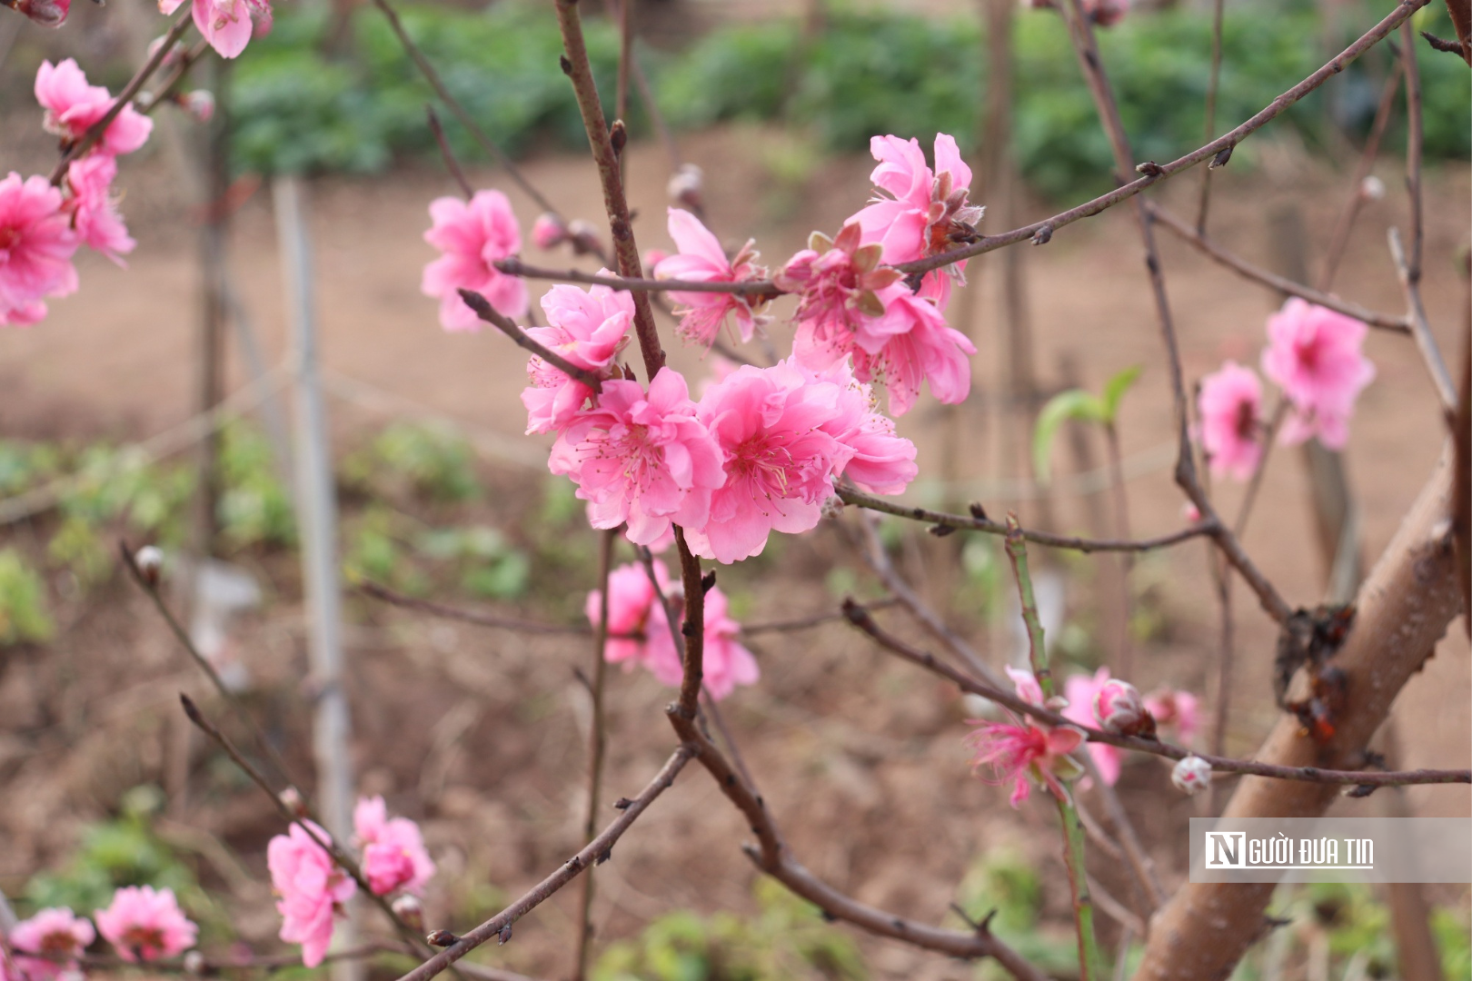
M375 896L424 891L434 875L434 862L417 824L408 818L390 819L383 797L365 797L353 812L353 830L362 847L359 865ZM330 837L306 821L293 824L266 846L271 887L281 913L280 937L302 944L302 963L308 968L322 963L343 903L358 890L318 840L325 843Z

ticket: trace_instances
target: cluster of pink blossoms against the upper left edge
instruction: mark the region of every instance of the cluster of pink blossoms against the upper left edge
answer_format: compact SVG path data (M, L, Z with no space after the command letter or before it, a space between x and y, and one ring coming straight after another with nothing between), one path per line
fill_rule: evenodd
M71 143L112 109L102 85L90 85L77 62L41 62L35 99L46 110L43 125ZM28 327L46 316L46 299L77 291L72 256L87 246L122 265L137 243L128 235L112 181L116 157L141 147L153 121L125 106L107 124L88 153L71 163L60 182L43 176L22 179L12 172L0 181L0 327Z

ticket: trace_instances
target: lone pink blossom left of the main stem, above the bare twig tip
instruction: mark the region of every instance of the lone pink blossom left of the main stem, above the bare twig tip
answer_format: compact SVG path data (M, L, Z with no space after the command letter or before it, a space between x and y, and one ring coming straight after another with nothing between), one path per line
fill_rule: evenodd
M500 191L475 191L470 201L439 197L430 201L434 225L424 241L445 254L424 266L420 291L440 302L440 327L446 331L478 331L480 318L461 299L459 290L486 297L511 319L527 313L527 284L493 265L521 249L521 228L511 201Z

